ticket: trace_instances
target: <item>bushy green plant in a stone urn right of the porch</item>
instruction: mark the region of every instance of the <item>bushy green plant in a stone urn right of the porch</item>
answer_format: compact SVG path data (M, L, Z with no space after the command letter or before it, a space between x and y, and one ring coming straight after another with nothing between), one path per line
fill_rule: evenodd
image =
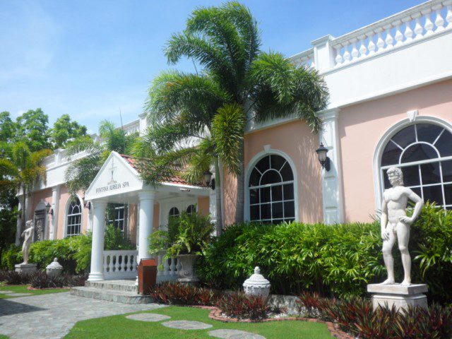
M167 230L159 230L150 235L150 253L158 254L166 250L167 258L177 258L180 263L177 280L180 283L197 283L194 270L196 259L208 244L215 224L209 217L199 213L183 212L179 218L170 220Z

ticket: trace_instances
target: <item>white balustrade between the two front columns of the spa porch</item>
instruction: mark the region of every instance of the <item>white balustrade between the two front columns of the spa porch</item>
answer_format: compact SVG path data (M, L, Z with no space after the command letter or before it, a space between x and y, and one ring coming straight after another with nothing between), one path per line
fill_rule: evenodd
M138 251L104 251L104 278L133 279L137 275Z

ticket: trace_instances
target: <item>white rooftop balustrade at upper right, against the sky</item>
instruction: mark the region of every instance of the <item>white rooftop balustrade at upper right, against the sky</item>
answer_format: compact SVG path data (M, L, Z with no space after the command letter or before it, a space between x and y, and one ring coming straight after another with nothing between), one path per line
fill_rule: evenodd
M332 41L335 67L452 29L452 0L433 0Z

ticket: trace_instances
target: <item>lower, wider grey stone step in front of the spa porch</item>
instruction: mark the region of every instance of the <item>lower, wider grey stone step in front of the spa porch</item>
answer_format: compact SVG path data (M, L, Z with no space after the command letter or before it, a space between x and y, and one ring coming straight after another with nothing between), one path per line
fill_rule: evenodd
M136 292L101 290L96 287L72 287L71 295L100 299L107 302L121 302L122 304L149 304L153 299L148 295L138 295Z

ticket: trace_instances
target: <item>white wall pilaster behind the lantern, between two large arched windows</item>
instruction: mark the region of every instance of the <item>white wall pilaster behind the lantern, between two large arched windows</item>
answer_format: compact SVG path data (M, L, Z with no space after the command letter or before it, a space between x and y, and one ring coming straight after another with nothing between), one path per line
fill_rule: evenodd
M330 158L330 170L322 170L323 221L326 224L344 222L338 114L339 109L328 109L321 113L323 130L320 142L328 148L327 155Z

